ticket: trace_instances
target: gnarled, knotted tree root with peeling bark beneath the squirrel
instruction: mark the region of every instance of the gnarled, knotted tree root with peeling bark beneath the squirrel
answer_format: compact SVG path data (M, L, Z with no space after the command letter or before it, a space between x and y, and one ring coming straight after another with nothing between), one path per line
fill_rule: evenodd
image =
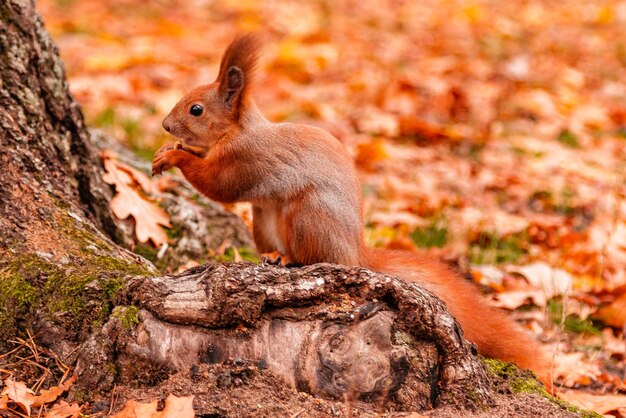
M87 367L94 358L135 365L120 374L126 382L137 370L240 359L315 396L399 411L491 401L485 368L443 302L365 269L207 265L133 278L118 303L138 306L138 323L124 328L118 315L94 336L77 368L82 385L112 383L105 368Z

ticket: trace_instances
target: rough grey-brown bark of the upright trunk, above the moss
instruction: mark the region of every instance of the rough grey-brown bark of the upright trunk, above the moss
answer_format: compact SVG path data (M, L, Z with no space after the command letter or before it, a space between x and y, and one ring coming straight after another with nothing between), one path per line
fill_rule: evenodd
M110 189L32 1L0 4L0 74L0 249L29 248L30 229L52 229L42 203L70 205L116 235Z

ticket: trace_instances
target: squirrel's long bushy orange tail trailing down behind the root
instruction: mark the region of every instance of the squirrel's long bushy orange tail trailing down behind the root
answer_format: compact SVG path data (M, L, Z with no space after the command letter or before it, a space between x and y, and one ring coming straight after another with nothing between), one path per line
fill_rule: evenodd
M548 361L540 344L505 313L487 305L478 289L448 266L409 251L364 249L363 265L419 283L443 300L480 354L531 369L549 386Z

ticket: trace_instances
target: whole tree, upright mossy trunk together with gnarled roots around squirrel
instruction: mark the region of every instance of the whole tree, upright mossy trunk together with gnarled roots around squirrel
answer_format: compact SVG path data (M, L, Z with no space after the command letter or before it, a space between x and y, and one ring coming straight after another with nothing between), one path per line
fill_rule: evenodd
M64 361L77 357L71 397L99 400L91 412L121 406L106 403L111 391L118 401L193 393L202 416L371 415L496 399L445 305L415 284L330 265L232 263L159 277L121 246L132 230L109 210L113 190L92 145L102 139L85 128L30 0L0 3L0 76L0 349L32 330ZM193 203L184 184L160 198L183 231L172 258L201 259L226 239L252 245L233 216Z

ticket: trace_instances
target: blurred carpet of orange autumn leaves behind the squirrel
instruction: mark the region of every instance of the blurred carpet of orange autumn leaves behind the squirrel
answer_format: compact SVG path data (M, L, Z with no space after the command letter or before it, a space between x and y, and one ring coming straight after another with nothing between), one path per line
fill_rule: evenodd
M626 389L625 1L37 5L87 123L147 159L226 45L263 31L256 100L350 150L370 245L469 271L552 344L562 385Z

